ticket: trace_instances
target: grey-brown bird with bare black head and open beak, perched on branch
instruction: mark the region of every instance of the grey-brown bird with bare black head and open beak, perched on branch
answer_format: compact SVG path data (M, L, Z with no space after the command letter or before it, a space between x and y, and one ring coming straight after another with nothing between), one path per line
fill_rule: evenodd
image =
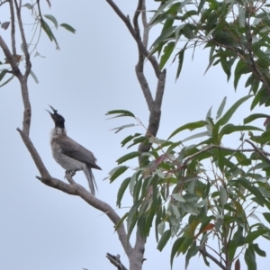
M52 106L49 105L49 107L52 112L46 111L49 112L55 123L55 127L51 130L50 134L52 156L60 166L67 170L66 173L75 175L76 171L84 171L90 192L94 195L94 186L97 189L97 185L94 180L92 168L98 170L102 168L95 164L96 158L91 151L67 136L64 117L58 114L58 111Z

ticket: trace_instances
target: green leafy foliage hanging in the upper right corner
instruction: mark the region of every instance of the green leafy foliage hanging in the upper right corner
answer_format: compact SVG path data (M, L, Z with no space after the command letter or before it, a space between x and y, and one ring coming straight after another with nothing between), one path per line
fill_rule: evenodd
M180 75L184 51L204 45L210 49L209 65L220 64L229 80L234 69L234 86L247 75L246 87L255 94L251 108L270 104L270 13L266 1L167 0L152 17L151 26L162 23L162 31L152 45L163 68L178 42L182 49L175 54Z

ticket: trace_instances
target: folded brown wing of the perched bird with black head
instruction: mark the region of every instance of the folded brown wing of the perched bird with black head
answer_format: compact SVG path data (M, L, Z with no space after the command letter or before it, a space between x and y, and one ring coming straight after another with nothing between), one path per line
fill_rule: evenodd
M67 157L74 158L86 164L86 166L101 170L100 166L95 164L94 154L78 144L75 140L67 138L58 139L58 144L62 148L63 154Z

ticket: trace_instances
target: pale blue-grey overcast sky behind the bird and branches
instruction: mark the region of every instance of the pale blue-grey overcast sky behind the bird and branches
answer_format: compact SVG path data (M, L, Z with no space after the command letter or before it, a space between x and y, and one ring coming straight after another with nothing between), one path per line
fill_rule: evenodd
M157 8L154 1L148 2L151 4L148 8ZM136 1L121 0L116 3L120 4L124 14L132 14L136 7ZM134 73L136 44L125 25L104 0L76 1L70 4L52 0L51 9L46 1L41 4L43 14L53 14L58 23L69 23L76 29L76 34L60 28L54 31L60 50L55 49L55 45L43 32L41 34L37 49L45 58L31 58L32 70L40 81L40 84L35 84L32 78L29 80L31 139L50 175L63 179L64 170L52 158L49 147L49 132L53 122L45 109L48 109L48 104L55 107L66 119L68 135L93 151L98 159L97 164L103 168L102 171L94 171L98 185L97 197L116 207L116 193L124 178L112 184L103 179L116 166L115 160L130 150L121 148L121 139L130 132L144 130L136 127L114 134L110 131L112 128L130 121L108 121L105 113L114 109L126 109L135 113L147 125L148 108ZM33 28L28 25L32 22L31 13L25 8L23 14L30 40L33 34ZM9 21L10 14L1 8L0 17L3 23ZM1 35L8 37L7 31L0 31ZM158 30L154 29L152 41L157 33ZM181 46L180 43L179 48ZM20 44L17 47L20 53ZM0 52L0 60L3 59L3 52ZM197 50L193 61L191 53L186 54L182 74L176 83L175 65L167 65L158 138L166 139L173 130L188 121L204 119L211 106L215 113L224 96L228 96L229 108L229 104L247 94L243 84L239 85L235 93L220 67L212 67L203 76L207 64L207 50ZM154 91L156 80L151 69L148 69L148 82ZM17 127L22 127L23 120L18 82L14 80L2 87L0 96L0 269L114 269L105 258L106 252L120 254L122 262L128 266L112 222L102 212L78 197L41 184L35 178L39 172L16 131ZM241 123L248 113L247 103L234 118L234 123ZM77 173L75 179L88 188L82 172ZM122 204L124 208L116 211L120 215L124 214L130 203L126 196ZM170 251L170 245L162 253L157 251L157 243L152 235L146 245L147 261L144 268L170 269ZM264 262L266 259L262 264ZM189 269L195 269L198 263L202 270L208 269L198 257L191 260ZM174 269L183 267L184 257L177 257ZM211 269L217 267L211 264Z

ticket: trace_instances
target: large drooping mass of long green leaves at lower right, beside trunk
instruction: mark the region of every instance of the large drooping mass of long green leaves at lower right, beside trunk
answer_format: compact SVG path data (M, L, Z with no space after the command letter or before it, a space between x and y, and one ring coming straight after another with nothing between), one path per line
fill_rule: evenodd
M247 268L256 269L256 255L266 257L257 238L270 239L270 154L263 148L270 145L270 133L249 122L267 115L252 114L242 125L229 122L250 97L241 98L223 112L225 98L216 119L211 117L210 110L204 120L185 124L166 140L147 139L136 133L121 143L128 148L141 141L152 144L148 153L140 154L144 157L140 166L121 184L117 204L121 206L127 189L134 201L121 222L127 220L129 235L138 225L144 238L154 224L160 251L170 238L175 238L171 265L175 256L183 254L187 268L191 257L201 253L208 266L213 253L217 257L214 262L221 269L230 269L239 266L239 257L245 254ZM136 120L131 112L108 114ZM182 137L184 130L200 132L180 141L173 140ZM249 138L245 139L247 133ZM240 139L238 148L226 147L224 139L235 138L235 134ZM194 139L196 143L190 144ZM119 158L121 166L112 171L111 181L129 168L122 166L123 162L138 156L136 151ZM261 207L265 207L266 224L263 216L257 214Z

